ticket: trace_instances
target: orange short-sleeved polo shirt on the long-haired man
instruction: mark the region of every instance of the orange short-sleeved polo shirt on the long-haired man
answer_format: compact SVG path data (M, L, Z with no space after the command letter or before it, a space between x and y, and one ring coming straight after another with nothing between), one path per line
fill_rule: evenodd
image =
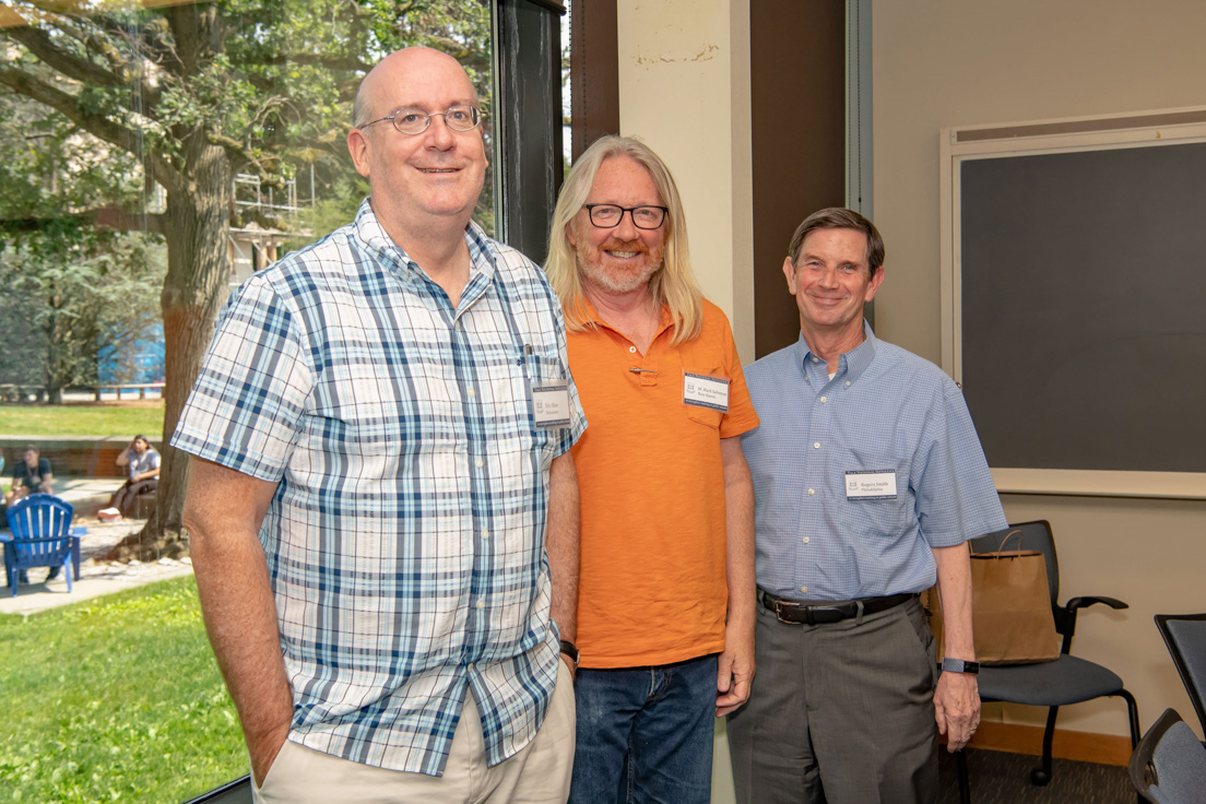
M663 309L642 354L587 310L597 327L568 334L590 423L572 450L581 499L581 667L716 653L728 604L720 439L759 423L728 319L704 300L699 336L672 346ZM728 411L685 404L685 372L727 378Z

